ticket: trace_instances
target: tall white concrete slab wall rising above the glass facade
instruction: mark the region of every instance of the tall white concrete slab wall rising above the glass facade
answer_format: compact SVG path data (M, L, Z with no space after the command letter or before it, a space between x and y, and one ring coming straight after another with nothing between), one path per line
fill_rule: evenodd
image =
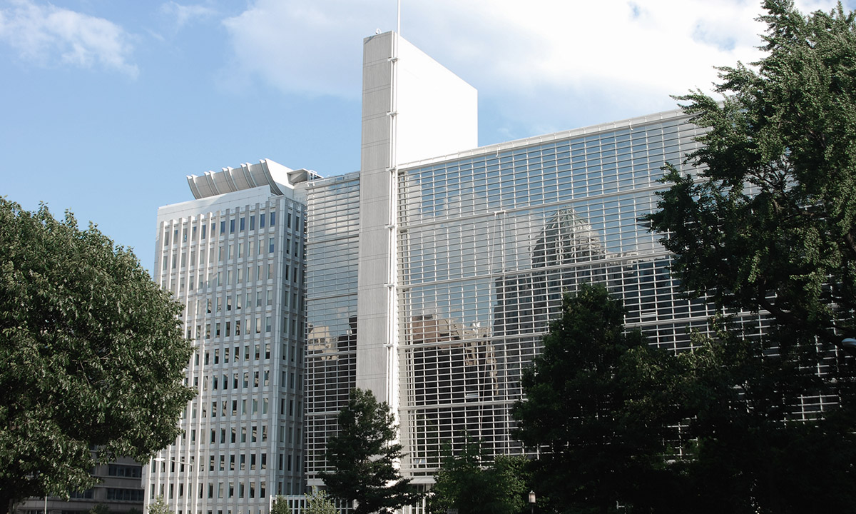
M396 397L396 166L477 145L473 87L401 39L363 42L356 386Z

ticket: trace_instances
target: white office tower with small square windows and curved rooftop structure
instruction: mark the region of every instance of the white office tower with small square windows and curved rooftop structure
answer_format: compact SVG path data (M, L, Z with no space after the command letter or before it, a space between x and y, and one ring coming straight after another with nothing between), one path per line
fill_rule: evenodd
M155 280L186 308L196 351L182 434L146 466L146 506L263 512L302 491L305 182L270 160L188 176L158 209Z

